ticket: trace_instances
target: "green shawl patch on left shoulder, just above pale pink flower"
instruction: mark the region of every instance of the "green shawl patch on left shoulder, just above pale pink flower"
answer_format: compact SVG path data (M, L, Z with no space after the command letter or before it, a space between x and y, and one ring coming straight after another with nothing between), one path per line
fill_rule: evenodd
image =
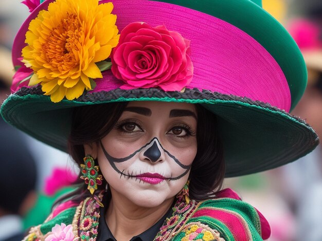
M46 234L51 231L52 227L54 227L56 224L61 225L61 223L65 225L69 225L73 222L73 218L76 212L76 207L74 208L68 208L61 213L59 213L56 217L52 218L48 222L44 223L40 227L40 231L43 234Z

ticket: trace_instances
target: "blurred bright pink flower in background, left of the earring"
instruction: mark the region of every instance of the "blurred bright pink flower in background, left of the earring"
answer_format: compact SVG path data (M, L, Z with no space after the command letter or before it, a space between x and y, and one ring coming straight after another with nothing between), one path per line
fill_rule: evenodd
M63 187L75 182L77 175L63 168L55 168L51 176L45 180L44 192L46 195L53 195Z

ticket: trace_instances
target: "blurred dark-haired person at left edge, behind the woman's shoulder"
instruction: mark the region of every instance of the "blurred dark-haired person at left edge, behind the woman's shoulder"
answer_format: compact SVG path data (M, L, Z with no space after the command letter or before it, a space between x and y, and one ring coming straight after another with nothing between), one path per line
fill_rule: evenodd
M37 169L20 131L0 119L0 240L21 240L22 218L37 198Z

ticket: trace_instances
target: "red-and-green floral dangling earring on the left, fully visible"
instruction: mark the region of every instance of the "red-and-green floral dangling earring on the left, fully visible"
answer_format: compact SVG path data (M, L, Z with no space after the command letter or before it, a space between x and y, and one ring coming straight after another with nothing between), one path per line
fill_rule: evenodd
M97 190L97 185L102 184L103 176L99 174L99 166L95 166L94 159L91 155L84 157L84 164L81 164L81 179L85 180L85 184L88 184L87 189L91 194Z

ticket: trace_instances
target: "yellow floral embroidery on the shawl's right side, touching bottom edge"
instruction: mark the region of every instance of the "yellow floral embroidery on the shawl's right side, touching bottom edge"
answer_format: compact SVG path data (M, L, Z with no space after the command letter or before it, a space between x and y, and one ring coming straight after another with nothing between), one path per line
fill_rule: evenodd
M208 225L200 222L187 224L178 236L182 237L182 241L225 241L220 237L220 233L217 230L211 229Z

